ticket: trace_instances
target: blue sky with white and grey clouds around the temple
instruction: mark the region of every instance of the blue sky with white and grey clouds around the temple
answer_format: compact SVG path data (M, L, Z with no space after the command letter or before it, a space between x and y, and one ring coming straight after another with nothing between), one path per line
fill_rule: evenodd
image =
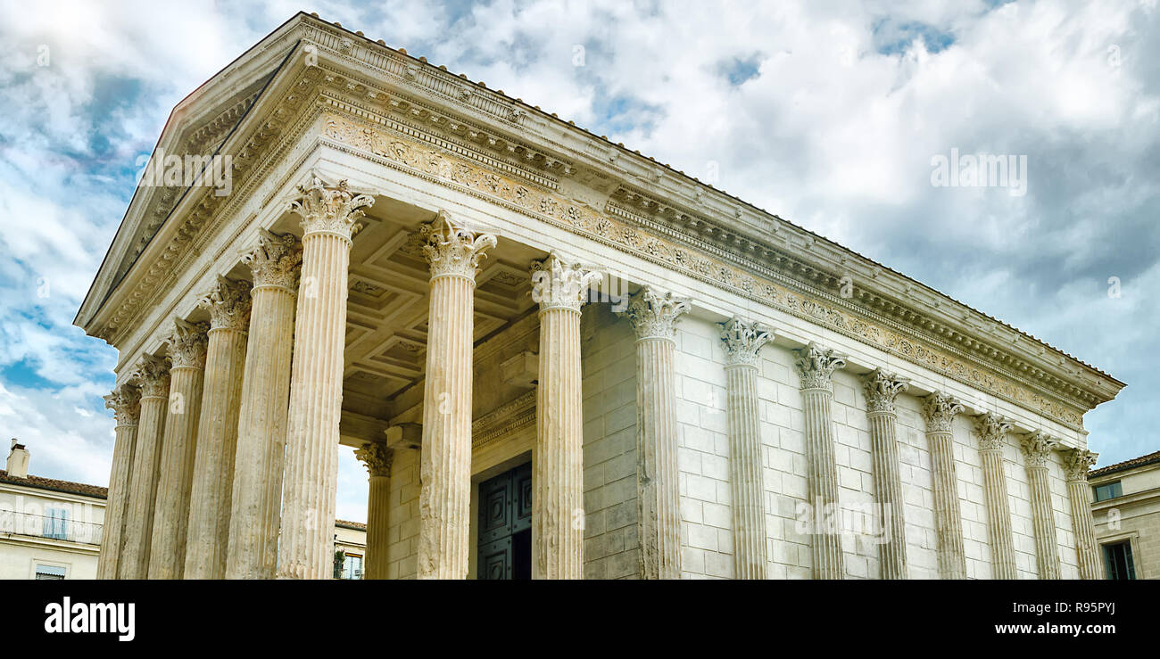
M0 433L34 473L107 483L116 353L71 325L77 307L169 109L302 8L1110 372L1129 386L1086 417L1100 464L1160 450L1155 0L2 0ZM1025 157L1025 178L933 184L952 150ZM346 449L340 477L339 516L363 520Z

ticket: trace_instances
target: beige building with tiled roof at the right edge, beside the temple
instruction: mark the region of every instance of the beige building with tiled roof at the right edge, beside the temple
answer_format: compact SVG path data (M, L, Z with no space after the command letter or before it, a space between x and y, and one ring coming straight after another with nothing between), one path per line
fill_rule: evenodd
M1160 579L1160 451L1088 472L1108 579Z

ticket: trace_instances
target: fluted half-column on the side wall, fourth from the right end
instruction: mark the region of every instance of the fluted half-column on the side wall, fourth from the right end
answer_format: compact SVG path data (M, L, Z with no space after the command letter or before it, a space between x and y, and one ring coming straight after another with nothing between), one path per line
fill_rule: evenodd
M930 446L930 480L935 498L935 533L938 536L938 572L943 579L966 579L963 550L963 516L958 507L958 475L955 469L955 435L951 422L965 407L940 391L927 396L922 415Z

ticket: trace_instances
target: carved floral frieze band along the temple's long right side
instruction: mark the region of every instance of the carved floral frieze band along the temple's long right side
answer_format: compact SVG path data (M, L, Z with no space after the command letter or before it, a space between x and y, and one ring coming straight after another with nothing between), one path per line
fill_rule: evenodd
M979 368L972 361L951 355L925 340L879 326L839 309L831 302L812 299L774 281L754 276L748 269L734 267L683 245L664 240L641 231L638 226L592 209L575 205L535 186L520 183L506 175L478 166L466 159L387 132L378 126L362 125L347 117L328 114L324 118L322 135L371 153L398 166L418 172L427 179L469 188L477 196L495 200L522 212L615 245L650 261L684 271L713 285L732 289L812 323L831 327L842 334L898 355L909 362L954 377L1016 403L1063 423L1082 428L1082 411L1039 394L1010 377Z

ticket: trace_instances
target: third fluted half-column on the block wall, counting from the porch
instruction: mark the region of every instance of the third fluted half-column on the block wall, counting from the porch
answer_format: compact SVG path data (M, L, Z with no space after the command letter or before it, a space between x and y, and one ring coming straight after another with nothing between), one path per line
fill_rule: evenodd
M846 367L846 355L832 348L810 343L797 350L796 367L802 378L805 411L805 450L809 465L809 492L813 509L811 533L814 579L844 579L842 529L831 528L822 520L839 520L838 463L834 459L834 398L832 377Z

